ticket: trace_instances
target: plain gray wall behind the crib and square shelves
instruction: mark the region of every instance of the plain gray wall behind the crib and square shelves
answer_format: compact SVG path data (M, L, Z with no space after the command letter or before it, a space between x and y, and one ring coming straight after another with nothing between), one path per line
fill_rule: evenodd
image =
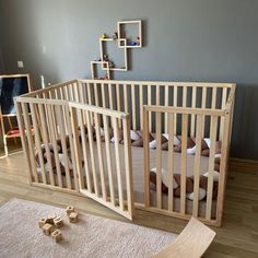
M105 3L104 3L105 2ZM90 77L98 37L116 21L144 21L142 49L116 79L236 82L231 155L258 160L257 0L0 0L8 72L56 83Z

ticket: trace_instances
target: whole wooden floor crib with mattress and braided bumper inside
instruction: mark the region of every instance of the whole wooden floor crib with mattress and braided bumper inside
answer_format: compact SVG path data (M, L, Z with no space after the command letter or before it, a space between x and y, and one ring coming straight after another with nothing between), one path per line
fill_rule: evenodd
M234 98L232 83L99 80L16 97L31 184L220 226Z

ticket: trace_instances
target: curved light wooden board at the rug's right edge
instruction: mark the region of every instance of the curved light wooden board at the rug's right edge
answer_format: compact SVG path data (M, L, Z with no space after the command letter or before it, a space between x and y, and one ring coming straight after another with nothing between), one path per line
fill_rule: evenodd
M209 248L215 232L191 218L183 232L155 258L200 258Z

